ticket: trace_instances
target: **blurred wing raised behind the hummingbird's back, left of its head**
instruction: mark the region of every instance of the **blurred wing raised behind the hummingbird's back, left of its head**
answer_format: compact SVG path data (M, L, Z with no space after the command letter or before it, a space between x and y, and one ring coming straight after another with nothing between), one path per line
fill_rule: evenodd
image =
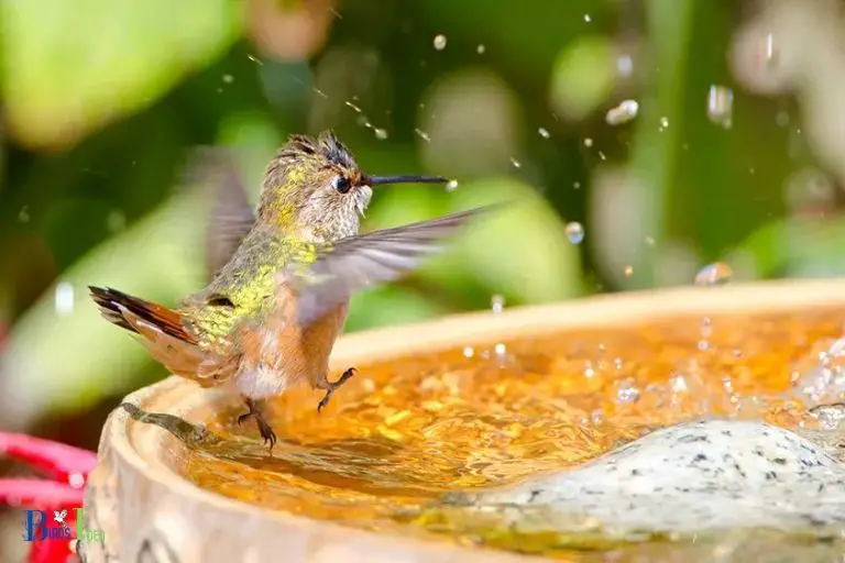
M255 224L255 213L230 150L198 150L188 175L191 181L215 189L215 202L206 227L206 269L211 278L231 260Z

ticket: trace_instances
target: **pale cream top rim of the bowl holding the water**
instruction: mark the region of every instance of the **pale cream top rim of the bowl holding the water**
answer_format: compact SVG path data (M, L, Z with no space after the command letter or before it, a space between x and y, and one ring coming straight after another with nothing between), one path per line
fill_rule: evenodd
M330 366L332 371L337 371L350 365L385 362L420 352L443 352L453 350L456 342L461 341L472 344L497 339L539 336L568 329L621 329L643 321L673 317L777 313L836 306L845 307L845 278L786 279L721 287L680 287L607 294L551 305L514 307L501 313L482 311L453 314L421 323L348 334L336 344ZM198 411L223 399L224 396L219 390L200 389L191 382L171 376L128 395L123 401L139 408L164 402L166 412L189 419L191 411ZM154 410L161 412L158 407ZM538 561L535 556L528 559L525 555L492 549L472 549L449 542L380 534L330 521L268 510L224 497L197 487L165 462L162 452L166 450L164 441L168 438L178 442L164 429L143 424L132 419L124 409L118 408L109 416L103 428L99 448L100 462L102 463L103 456L108 454L111 456L111 463L117 462L156 486L166 488L171 494L190 499L207 510L261 518L265 522L273 522L276 533L319 536L323 547L342 548L342 544L352 544L356 554L372 555L377 561L381 561L378 554L385 549L398 549L403 558L422 556L420 561L469 563L476 562L480 558L502 563ZM173 444L168 448L172 450Z

